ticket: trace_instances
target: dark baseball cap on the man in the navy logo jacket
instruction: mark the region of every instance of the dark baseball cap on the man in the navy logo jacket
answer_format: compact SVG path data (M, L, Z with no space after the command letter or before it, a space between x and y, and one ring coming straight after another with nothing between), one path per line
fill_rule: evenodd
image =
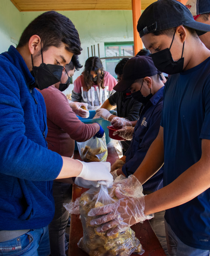
M152 58L137 55L126 62L123 68L123 78L113 89L117 92L124 92L135 80L156 74L161 74L161 72L155 67Z

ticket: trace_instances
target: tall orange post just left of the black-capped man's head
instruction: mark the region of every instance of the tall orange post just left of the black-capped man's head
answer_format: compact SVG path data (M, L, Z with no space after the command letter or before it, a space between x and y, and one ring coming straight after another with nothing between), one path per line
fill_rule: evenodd
M134 54L136 55L140 49L143 48L143 43L137 31L137 24L141 16L141 0L132 0L132 14L133 14L133 42Z

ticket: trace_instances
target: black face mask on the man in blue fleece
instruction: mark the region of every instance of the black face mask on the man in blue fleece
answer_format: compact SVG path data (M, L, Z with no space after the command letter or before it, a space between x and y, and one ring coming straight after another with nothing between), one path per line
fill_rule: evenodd
M42 43L41 43L42 47ZM42 48L41 48L42 54ZM63 72L63 67L52 64L45 64L43 62L42 56L42 64L39 67L35 67L33 64L33 56L31 54L32 61L32 71L31 75L34 76L36 81L36 87L40 90L43 90L51 85L55 85L55 83L61 81L61 76Z

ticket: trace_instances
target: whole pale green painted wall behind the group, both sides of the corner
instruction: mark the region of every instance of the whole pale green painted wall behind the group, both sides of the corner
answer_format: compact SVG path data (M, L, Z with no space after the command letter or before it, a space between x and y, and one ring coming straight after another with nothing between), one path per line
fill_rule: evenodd
M10 0L0 0L0 52L6 51L10 45L15 46L23 29L41 13L43 12L19 12ZM87 47L92 56L91 45L96 46L96 56L98 56L99 43L100 57L104 57L104 42L133 41L132 11L63 11L59 13L71 19L79 32L83 48L79 56L82 65L88 58ZM81 74L82 70L75 72L73 80Z

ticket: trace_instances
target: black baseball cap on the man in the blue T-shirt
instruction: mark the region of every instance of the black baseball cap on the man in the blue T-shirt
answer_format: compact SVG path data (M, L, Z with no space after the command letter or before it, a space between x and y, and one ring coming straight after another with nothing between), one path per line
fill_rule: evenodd
M210 31L210 25L195 21L188 8L176 0L158 0L149 5L138 20L137 30L142 37L180 25L195 29L197 35Z

